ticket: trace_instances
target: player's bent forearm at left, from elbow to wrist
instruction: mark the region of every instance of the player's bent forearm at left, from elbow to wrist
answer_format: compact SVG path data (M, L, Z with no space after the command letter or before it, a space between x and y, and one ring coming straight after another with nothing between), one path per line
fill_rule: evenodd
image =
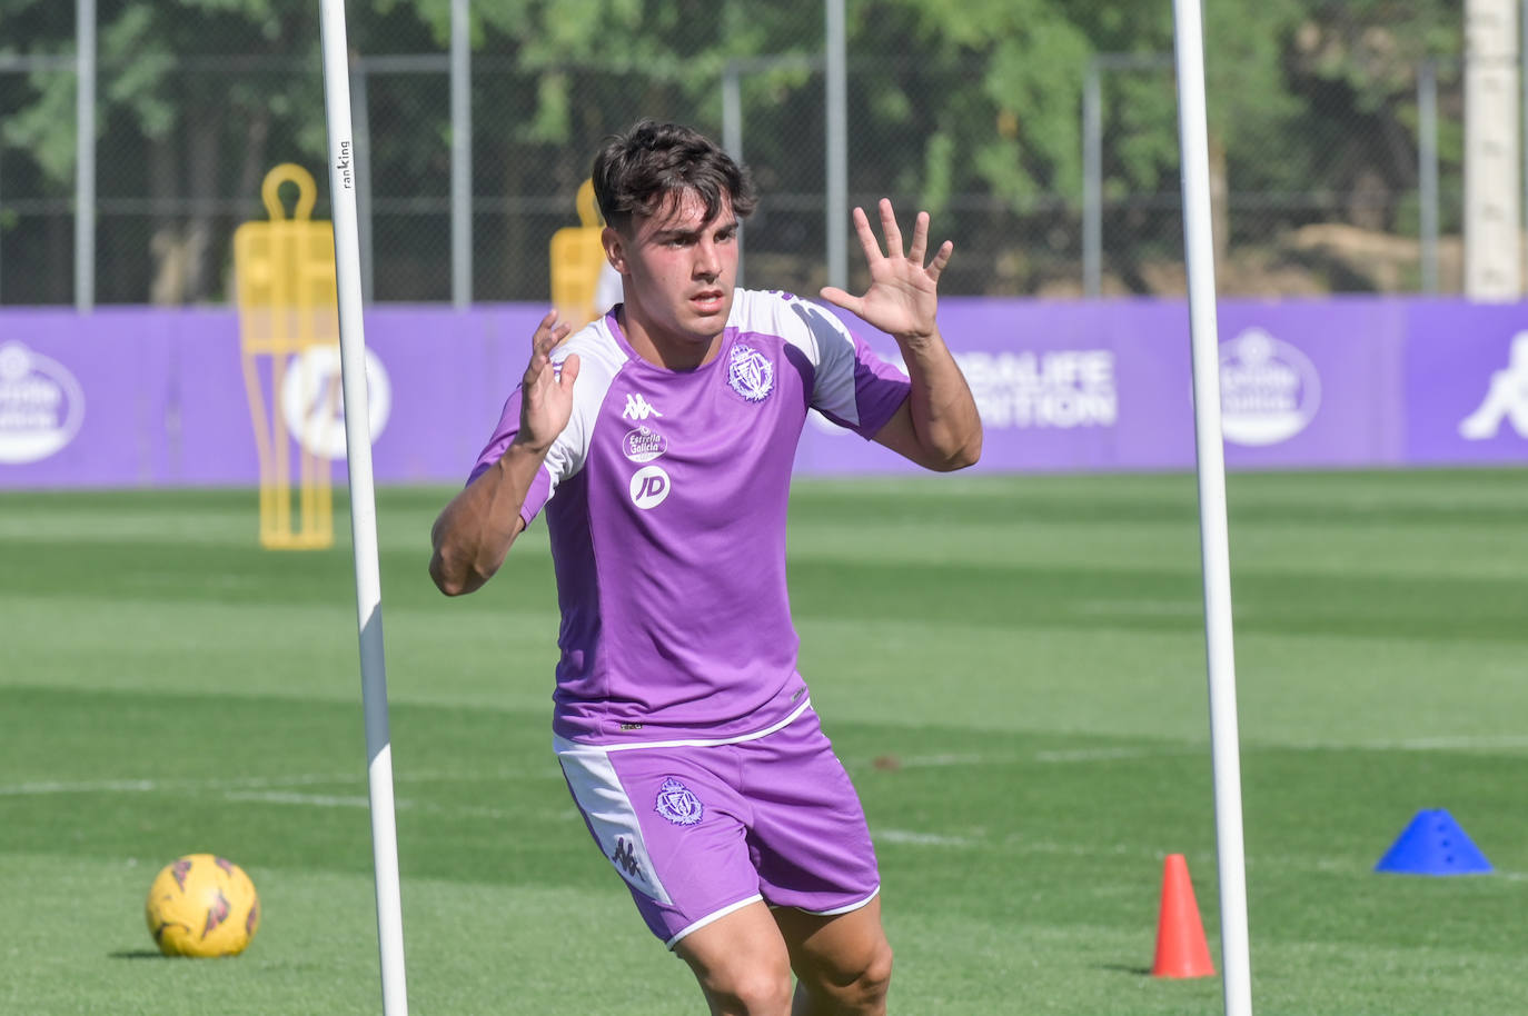
M429 578L442 593L477 591L504 564L524 529L520 509L544 458L544 451L512 443L445 507L429 532Z

